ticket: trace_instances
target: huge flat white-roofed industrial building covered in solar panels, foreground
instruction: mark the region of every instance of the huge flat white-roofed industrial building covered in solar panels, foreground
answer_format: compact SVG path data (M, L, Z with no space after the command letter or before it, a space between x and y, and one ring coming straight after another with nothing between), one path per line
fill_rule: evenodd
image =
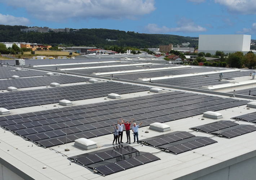
M244 133L234 128L255 128L256 79L250 76L250 69L116 59L30 59L25 60L27 67L16 69L5 64L0 67L0 180L255 180L256 131ZM219 80L221 73L223 80ZM11 78L13 75L20 78ZM59 83L59 87L50 85L53 82ZM8 91L6 87L11 85L18 90ZM200 88L202 86L204 88ZM252 90L251 96L248 89ZM118 93L120 98L112 99L107 95L110 93ZM72 104L60 104L59 100L64 97ZM7 108L9 114L4 114L7 111L3 108ZM248 117L250 122L242 121L243 117L235 118L248 113L253 113ZM143 121L138 129L140 143L132 143L132 132L131 144L122 143L138 152L125 155L123 149L120 153L124 155L111 154L116 159L103 161L98 154L121 146L112 145L113 134L110 134L114 132L113 123L116 125L120 116L129 122L134 118L137 124ZM168 131L163 128L161 131L161 125L158 125L159 130L150 128L153 121L162 122L162 127L168 127ZM238 125L225 131L223 136L227 138L222 136L223 132L213 135L193 129L208 127L209 123L216 128L215 123L219 121ZM88 129L81 130L81 127ZM173 152L178 150L175 154L147 144L150 140L143 141L161 135L162 141L154 140L160 144L164 137L167 139L166 134L181 131L193 136L190 138L204 138L214 143L202 145L195 140L190 144L192 141L184 138L182 144L176 140L172 146ZM232 136L232 132L241 134ZM38 142L31 138L36 138L34 135L40 139ZM75 144L75 136L85 135L97 143L97 148L84 149ZM66 141L58 144L61 139ZM123 132L123 142L126 140ZM188 143L189 148L185 146ZM110 169L105 168L102 172L106 176L97 169L81 165L85 160L70 160L87 157L86 153L94 157L88 158L95 160L91 167L101 167L100 164L110 167L107 163L111 161ZM136 160L139 153L159 159L151 161L143 157L140 160L145 163L141 163ZM120 162L124 161L128 168L120 169Z

